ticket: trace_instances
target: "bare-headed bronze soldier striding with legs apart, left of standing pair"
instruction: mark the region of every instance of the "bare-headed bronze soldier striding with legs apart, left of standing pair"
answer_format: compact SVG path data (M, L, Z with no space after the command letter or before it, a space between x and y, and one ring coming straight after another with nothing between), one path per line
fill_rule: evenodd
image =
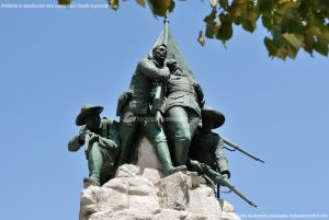
M167 139L162 129L162 116L160 111L151 111L152 93L157 88L156 82L166 82L169 78L169 69L164 66L167 46L158 45L152 49L152 56L138 62L132 77L128 92L124 93L117 105L117 114L121 116L120 139L121 153L117 166L128 162L132 154L132 143L138 129L141 129L155 148L164 175L179 171L185 171L186 166L174 167L172 165Z

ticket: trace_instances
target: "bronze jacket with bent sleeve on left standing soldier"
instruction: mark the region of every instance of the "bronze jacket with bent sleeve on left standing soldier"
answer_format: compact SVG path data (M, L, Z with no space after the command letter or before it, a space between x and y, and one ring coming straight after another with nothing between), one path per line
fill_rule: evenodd
M126 109L135 115L146 115L149 111L155 81L168 78L168 68L161 67L156 60L147 58L138 62L132 77L129 91L133 93Z

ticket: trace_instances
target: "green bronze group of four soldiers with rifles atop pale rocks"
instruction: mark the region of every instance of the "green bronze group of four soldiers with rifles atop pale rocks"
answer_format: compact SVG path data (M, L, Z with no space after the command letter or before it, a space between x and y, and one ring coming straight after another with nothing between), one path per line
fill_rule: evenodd
M254 206L228 182L225 144L261 160L213 132L224 124L224 115L204 107L201 85L174 56L169 58L167 54L167 44L157 44L137 63L128 91L118 97L120 121L101 118L102 106L82 106L76 119L81 129L68 149L77 151L84 146L89 166L84 187L101 186L114 177L118 166L136 162L133 143L143 135L152 144L164 176L188 170L197 172Z

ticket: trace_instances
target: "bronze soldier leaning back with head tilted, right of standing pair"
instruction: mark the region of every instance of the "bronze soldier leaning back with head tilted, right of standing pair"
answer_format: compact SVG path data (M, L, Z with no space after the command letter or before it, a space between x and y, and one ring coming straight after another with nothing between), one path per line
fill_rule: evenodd
M175 165L183 165L201 120L204 95L200 84L186 76L174 59L168 60L167 66L171 74L167 83L166 131Z

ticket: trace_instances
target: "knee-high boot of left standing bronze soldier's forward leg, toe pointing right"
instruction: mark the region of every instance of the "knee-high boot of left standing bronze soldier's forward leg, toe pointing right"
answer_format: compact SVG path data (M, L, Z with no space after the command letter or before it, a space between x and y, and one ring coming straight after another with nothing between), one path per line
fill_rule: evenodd
M158 142L155 150L162 166L163 175L168 176L175 172L186 172L185 165L173 166L167 142Z

